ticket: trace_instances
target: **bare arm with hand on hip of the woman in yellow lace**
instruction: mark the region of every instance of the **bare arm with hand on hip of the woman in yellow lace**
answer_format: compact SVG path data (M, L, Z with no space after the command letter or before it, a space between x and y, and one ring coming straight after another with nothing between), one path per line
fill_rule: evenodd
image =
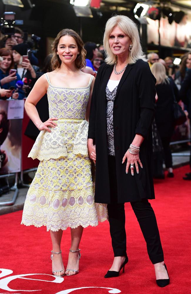
M29 93L29 96L25 101L25 110L37 128L40 126L40 130L46 129L48 132L51 132L48 126L57 126L56 123L53 122L53 120L57 120L57 118L49 118L48 121L43 123L36 109L36 104L46 94L47 88L48 82L46 77L43 75L36 81L34 87Z

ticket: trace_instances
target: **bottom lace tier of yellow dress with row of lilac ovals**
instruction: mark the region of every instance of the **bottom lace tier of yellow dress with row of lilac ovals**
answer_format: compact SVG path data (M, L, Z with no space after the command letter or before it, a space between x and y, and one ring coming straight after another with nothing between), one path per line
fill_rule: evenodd
M58 231L82 225L97 226L108 220L107 205L94 203L93 187L79 191L47 191L31 186L26 196L21 224Z

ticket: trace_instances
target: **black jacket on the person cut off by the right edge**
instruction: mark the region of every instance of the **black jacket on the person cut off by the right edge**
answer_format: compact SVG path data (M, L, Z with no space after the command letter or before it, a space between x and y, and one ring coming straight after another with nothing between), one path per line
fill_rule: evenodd
M191 119L191 69L187 70L185 78L180 88L180 97L182 101L187 105L189 118Z

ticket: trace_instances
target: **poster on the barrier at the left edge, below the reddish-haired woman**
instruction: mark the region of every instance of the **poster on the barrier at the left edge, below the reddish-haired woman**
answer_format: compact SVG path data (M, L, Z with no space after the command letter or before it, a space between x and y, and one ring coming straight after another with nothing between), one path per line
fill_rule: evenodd
M23 100L0 100L1 175L21 171L23 111Z

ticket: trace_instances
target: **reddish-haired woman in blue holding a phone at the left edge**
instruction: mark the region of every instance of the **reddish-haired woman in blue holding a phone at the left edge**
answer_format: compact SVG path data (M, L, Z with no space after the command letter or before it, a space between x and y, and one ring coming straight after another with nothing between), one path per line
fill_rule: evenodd
M17 81L20 80L19 75L13 70L13 56L11 50L6 48L0 49L0 56L2 61L0 63L0 95L1 99L7 99L12 96L14 99L23 99L24 92L22 89L14 91L17 88Z

